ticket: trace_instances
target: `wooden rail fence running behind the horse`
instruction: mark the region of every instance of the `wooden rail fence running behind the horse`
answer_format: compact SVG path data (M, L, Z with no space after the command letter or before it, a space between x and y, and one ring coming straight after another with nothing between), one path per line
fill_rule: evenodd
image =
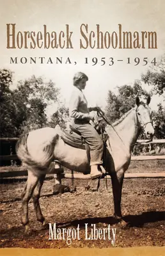
M0 141L17 141L18 138L0 138ZM148 140L138 140L141 145L148 145L148 144L165 144L165 140L153 140L153 141L148 141ZM13 161L17 160L18 157L17 155L7 155L7 156L0 156L1 160L8 160L8 161ZM162 160L165 159L165 156L132 156L131 161L146 161L146 160ZM54 177L59 177L60 179L90 179L89 174L71 174L71 173L63 173L63 168L52 168L51 172L49 174L54 174ZM20 170L20 171L10 171L10 172L0 172L0 179L3 178L8 178L8 177L22 177L22 176L27 176L28 172L26 169ZM110 178L109 176L107 176ZM129 178L162 178L165 177L165 172L164 173L125 173L125 179Z

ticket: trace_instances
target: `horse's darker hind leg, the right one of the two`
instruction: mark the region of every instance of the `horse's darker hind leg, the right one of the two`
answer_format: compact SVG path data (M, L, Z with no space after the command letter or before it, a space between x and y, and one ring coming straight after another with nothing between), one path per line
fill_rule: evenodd
M43 181L45 179L45 174L41 175L38 179L38 183L36 184L36 188L33 191L33 204L35 207L35 212L36 212L36 220L40 221L42 223L42 225L44 225L45 223L45 218L42 215L42 211L40 208L40 203L39 203L39 198L40 198L40 192L42 189L42 185L43 185Z

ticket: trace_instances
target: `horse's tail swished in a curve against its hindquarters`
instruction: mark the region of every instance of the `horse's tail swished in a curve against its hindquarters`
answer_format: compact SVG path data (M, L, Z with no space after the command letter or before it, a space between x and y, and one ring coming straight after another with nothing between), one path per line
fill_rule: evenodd
M48 166L45 166L45 164L39 163L38 161L35 161L31 156L31 154L29 154L28 145L27 145L28 136L29 136L29 133L23 134L22 136L20 136L19 140L17 141L16 147L15 147L17 156L23 163L28 164L28 166L45 170L45 168L47 168ZM47 152L47 155L49 155L48 157L49 157L49 163L50 163L52 156L50 156L50 152Z

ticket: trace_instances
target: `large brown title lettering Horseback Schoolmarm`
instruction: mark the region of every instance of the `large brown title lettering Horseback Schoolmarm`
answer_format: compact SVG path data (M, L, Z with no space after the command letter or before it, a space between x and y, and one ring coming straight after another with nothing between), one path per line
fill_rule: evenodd
M40 31L19 31L17 24L6 24L7 49L157 49L156 31L124 31L122 24L115 31L95 25L81 24L79 31L72 31L69 24L62 30L49 31L43 25ZM75 37L74 37L75 33Z

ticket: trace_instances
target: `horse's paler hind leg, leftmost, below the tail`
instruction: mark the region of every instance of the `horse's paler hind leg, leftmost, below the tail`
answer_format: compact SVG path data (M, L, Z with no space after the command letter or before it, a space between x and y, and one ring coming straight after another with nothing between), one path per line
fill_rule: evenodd
M36 177L33 172L28 172L28 180L26 182L26 187L24 188L24 191L22 192L22 224L26 227L26 230L28 230L28 203L29 200L33 194L33 191L36 187L36 184L38 182L38 177Z

